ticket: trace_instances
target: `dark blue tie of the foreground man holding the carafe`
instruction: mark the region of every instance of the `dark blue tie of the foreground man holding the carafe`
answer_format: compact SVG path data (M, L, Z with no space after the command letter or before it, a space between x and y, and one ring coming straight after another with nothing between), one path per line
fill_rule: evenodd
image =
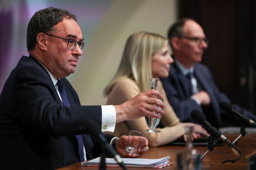
M70 104L68 102L68 97L61 81L58 80L56 85L58 86L58 90L60 92L60 97L62 99L63 105L69 107ZM81 162L83 162L84 161L84 142L81 135L76 135L76 138L78 141L79 156L80 156Z

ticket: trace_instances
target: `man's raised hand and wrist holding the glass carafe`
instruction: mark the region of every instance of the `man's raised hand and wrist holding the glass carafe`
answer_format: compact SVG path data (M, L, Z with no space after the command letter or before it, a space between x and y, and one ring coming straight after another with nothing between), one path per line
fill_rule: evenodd
M165 107L164 103L152 96L156 96L159 99L163 98L160 92L151 89L138 94L121 105L115 105L116 122L134 120L144 116L161 118L161 116L156 113L164 115L164 110L161 109ZM160 106L161 108L155 105ZM156 113L152 111L155 111Z

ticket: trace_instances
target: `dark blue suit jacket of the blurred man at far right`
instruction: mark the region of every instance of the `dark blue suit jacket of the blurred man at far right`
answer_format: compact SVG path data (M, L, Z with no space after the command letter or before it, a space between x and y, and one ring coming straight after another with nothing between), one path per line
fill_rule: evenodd
M219 103L221 101L230 103L230 100L224 93L219 91L214 83L211 71L203 64L197 63L194 65L194 76L201 86L201 90L205 90L209 94L211 98L210 107L203 109L197 105L195 100L190 98L188 78L181 73L176 63L171 64L168 78L161 78L169 103L181 122L195 122L191 117L191 111L198 109L206 115L210 123L218 128L221 127L221 118L228 119L229 115L221 110ZM233 105L233 107L251 119L256 120L256 116L249 111L238 105Z

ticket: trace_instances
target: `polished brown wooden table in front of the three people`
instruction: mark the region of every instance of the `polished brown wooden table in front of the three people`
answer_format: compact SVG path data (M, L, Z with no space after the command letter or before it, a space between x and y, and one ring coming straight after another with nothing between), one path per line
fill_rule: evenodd
M233 142L236 139L236 137L238 137L238 135L239 134L225 135L225 136L228 137L228 139L231 142ZM251 136L256 138L256 135L251 135ZM256 142L250 139L249 137L243 136L238 140L237 144L235 144L234 146L242 152L242 158L236 161L236 163L226 162L224 164L221 164L222 161L227 159L215 151L209 151L203 159L203 165L204 167L206 167L204 169L207 169L207 170L208 169L209 170L216 170L216 169L217 170L223 170L223 169L245 170L247 169L248 157L250 157L253 154L256 154ZM150 147L149 151L147 153L144 153L141 158L158 159L158 158L163 158L165 156L171 155L170 163L173 163L173 165L166 166L162 169L176 169L176 166L177 166L176 153L183 148L184 146ZM194 148L197 149L197 151L199 151L201 154L204 154L207 150L207 146L194 146ZM214 149L224 153L231 159L236 159L239 157L239 153L234 148L228 146L227 144L222 144L221 146L214 146ZM88 169L99 169L99 167L81 166L80 163L77 163L74 165L60 168L58 170L88 170ZM107 169L119 170L122 168L107 167ZM138 168L127 168L127 169L138 170ZM156 168L147 168L147 169L156 170Z

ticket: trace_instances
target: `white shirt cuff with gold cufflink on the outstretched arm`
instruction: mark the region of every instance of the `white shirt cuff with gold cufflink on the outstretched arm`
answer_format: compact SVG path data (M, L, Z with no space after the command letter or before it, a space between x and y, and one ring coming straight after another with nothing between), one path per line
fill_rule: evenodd
M101 106L101 132L114 132L116 127L116 109L113 105Z

